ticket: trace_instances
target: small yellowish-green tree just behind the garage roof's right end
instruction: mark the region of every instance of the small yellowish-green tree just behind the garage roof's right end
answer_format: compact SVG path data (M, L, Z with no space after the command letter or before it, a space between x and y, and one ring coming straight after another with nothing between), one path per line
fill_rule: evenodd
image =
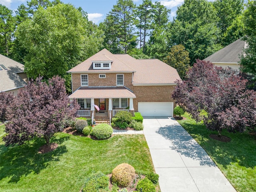
M163 62L175 68L182 80L186 76L186 72L189 70L190 58L189 53L185 50L183 45L174 45Z

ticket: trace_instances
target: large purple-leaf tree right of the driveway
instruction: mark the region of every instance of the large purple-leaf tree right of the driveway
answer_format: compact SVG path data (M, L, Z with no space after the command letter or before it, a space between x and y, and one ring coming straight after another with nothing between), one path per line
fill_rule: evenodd
M203 120L207 128L217 130L219 134L224 128L230 132L243 132L256 124L255 92L245 89L246 80L231 68L196 60L185 80L177 82L172 97L196 121Z

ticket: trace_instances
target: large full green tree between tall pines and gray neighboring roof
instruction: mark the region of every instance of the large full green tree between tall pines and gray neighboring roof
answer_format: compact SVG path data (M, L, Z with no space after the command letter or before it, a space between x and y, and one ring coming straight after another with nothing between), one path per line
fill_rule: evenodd
M170 45L183 44L191 65L196 59L204 59L222 48L218 43L220 30L212 2L185 0L176 14L168 30Z

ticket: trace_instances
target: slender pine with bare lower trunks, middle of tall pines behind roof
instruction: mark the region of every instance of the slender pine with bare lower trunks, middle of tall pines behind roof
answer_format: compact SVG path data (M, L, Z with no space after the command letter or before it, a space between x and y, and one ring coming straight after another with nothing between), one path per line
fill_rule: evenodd
M151 29L153 16L152 7L153 4L151 0L143 0L142 4L140 4L135 11L137 18L136 27L139 30L139 44L143 53L146 52L146 36L149 35L149 30Z

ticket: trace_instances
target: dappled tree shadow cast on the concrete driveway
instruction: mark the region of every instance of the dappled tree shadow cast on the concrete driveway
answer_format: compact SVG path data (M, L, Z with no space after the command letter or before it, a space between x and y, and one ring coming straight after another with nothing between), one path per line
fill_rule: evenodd
M216 166L204 149L180 125L160 127L156 133L170 140L174 144L172 149L185 156L186 162L191 159L198 162L200 166Z

